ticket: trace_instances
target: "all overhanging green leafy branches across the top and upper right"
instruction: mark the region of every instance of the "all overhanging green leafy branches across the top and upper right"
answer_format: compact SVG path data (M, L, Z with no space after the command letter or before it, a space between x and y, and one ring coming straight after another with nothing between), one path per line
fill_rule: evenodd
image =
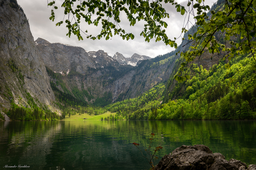
M117 34L123 39L133 39L134 35L132 33L125 32L119 26L121 22L120 11L124 11L130 25L134 25L141 20L147 22L140 34L144 36L145 41L149 42L151 39L162 40L166 45L175 48L177 48L175 38L171 40L165 33L168 25L164 18L169 18L169 14L166 13L163 4L175 5L177 12L180 12L181 15L185 13L188 16L192 15L196 21L194 25L196 32L188 32L186 26L182 28L182 32L188 32L188 43L192 42L193 46L189 51L180 52L185 62L181 63L180 70L175 75L176 80L184 81L190 79L186 73L188 63L194 60L196 56L200 57L206 52L213 54L223 51L225 52L223 60L226 58L231 60L238 54L251 53L255 60L256 1L223 0L218 2L221 8L212 10L211 13L209 13L210 7L204 4L204 0L188 0L188 10L184 6L175 3L174 0L164 0L164 2L163 0L80 0L77 2L76 0L63 0L61 7L64 8L64 14L68 15L65 23L69 37L73 33L79 40L83 40L81 36L83 31L80 28L81 19L83 18L88 25L98 26L99 22L102 25L101 32L96 36L89 35L87 30L84 31L83 33L86 34L87 38L101 39L104 37L108 40L113 34ZM54 21L54 10L57 10L58 7L55 5L55 0L52 0L48 5L52 6L50 19ZM93 20L92 15L97 16L97 18ZM63 24L63 21L58 22L56 26L61 24ZM224 37L224 41L217 39L216 34ZM227 63L225 67L229 69L230 64ZM256 70L256 65L252 66L251 69Z

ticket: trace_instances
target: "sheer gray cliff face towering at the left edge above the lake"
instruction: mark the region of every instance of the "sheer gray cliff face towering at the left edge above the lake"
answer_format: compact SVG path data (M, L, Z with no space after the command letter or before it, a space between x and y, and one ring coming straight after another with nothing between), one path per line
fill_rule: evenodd
M28 19L22 8L9 0L0 6L0 60L2 109L10 108L12 101L29 107L31 97L38 106L51 105L55 97Z

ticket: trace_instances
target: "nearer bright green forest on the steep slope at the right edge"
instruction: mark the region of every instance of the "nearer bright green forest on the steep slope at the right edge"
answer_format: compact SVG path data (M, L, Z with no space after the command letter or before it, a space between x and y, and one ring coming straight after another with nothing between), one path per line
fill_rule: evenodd
M230 70L223 62L209 71L191 64L188 71L192 78L176 82L175 89L168 93L168 102L149 119L256 119L256 75L251 70L255 61L240 55L232 62ZM170 79L167 88L173 81Z

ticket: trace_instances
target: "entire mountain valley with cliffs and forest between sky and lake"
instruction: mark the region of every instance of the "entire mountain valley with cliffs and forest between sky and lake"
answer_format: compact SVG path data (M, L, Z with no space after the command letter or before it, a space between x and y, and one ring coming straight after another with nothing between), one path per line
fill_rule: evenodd
M170 53L111 57L103 50L34 41L22 8L3 5L0 109L12 120L65 120L107 111L126 120L256 117L255 60L246 53L232 61L222 60L222 51L203 53L182 73L189 80L175 80L184 62L179 52L189 51L192 44L185 40L195 28Z

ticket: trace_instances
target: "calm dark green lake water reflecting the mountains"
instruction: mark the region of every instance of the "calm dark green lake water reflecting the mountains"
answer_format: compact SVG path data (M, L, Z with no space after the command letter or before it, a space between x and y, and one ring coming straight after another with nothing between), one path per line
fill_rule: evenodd
M0 169L148 170L132 143L144 151L151 133L153 148L163 147L158 158L203 144L227 160L256 164L256 121L13 121L0 122Z

